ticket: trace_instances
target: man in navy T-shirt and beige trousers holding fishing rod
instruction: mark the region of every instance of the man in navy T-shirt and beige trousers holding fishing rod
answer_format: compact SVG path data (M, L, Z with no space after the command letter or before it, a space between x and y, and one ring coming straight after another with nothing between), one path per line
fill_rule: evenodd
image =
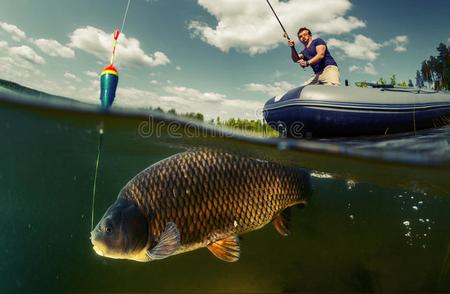
M314 75L304 85L340 86L339 68L325 41L320 38L313 39L311 31L305 27L298 30L297 36L305 49L299 54L291 50L292 60L303 68L310 66L314 71ZM288 40L288 45L294 48L295 43Z

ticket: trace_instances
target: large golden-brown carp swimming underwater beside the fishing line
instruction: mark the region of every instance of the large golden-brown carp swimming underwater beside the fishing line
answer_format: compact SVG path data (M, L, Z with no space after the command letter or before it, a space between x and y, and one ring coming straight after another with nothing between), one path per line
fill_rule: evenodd
M151 261L207 247L239 259L239 234L269 222L288 235L287 208L306 204L303 169L236 154L196 150L136 175L91 232L97 254Z

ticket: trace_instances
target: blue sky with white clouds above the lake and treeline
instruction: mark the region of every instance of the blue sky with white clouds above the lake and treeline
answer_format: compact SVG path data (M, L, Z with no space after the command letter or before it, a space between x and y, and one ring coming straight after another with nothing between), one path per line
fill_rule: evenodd
M450 45L450 1L272 0L291 37L308 26L351 82L415 77ZM0 0L0 78L98 103L127 0ZM264 0L131 0L116 104L256 118L312 74L292 63ZM297 48L301 49L297 39Z

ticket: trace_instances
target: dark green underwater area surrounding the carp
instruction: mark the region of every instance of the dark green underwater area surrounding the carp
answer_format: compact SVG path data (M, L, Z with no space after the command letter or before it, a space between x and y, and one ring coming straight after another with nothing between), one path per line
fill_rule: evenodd
M137 263L92 250L95 222L142 169L220 147L314 169L292 235L242 236L241 258L201 249ZM142 119L0 103L0 292L450 291L450 169L271 147L233 138L142 136ZM334 173L333 178L319 172Z

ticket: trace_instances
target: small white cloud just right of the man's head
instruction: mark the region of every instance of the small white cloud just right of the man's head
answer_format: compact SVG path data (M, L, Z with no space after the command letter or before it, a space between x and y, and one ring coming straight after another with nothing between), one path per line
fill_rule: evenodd
M378 51L383 47L382 44L363 35L356 35L353 42L332 38L328 41L328 46L343 50L347 57L369 61L375 60L379 55Z

